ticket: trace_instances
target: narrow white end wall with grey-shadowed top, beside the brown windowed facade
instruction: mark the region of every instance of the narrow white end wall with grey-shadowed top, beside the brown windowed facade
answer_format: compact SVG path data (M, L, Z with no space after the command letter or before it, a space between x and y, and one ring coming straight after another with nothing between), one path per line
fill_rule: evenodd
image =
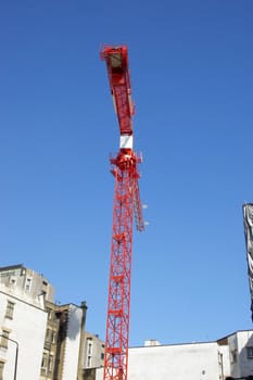
M83 309L69 305L62 380L77 379Z

